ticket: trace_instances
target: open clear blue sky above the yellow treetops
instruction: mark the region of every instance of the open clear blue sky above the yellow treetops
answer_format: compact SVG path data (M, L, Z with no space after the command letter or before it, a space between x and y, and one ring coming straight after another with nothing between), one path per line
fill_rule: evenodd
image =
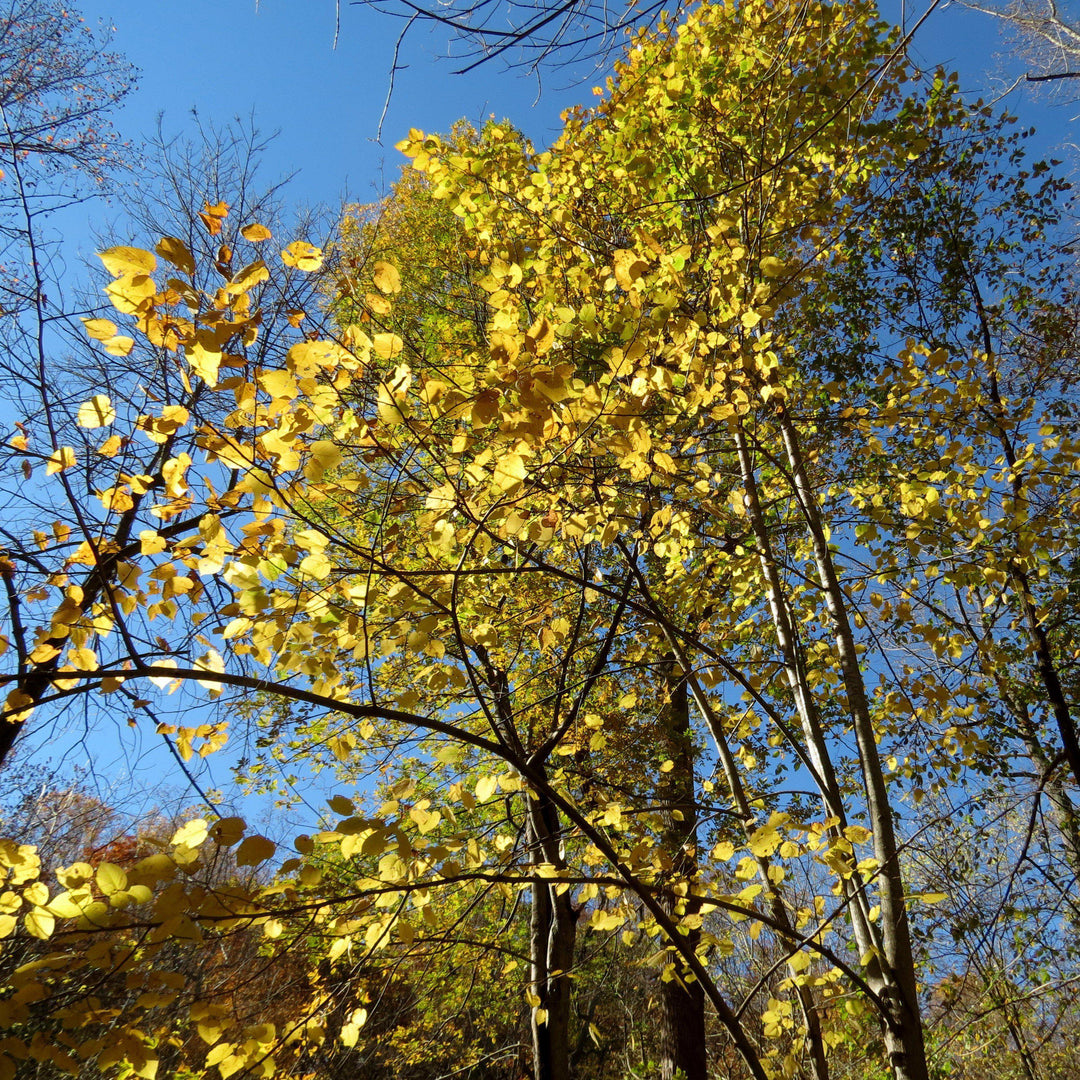
M192 107L215 122L254 111L264 131L281 130L269 171L300 170L294 198L309 203L334 204L346 192L366 201L377 193L396 175L401 159L393 144L409 127L445 131L460 117L478 121L494 112L545 144L558 131L559 112L592 100L592 86L603 77L589 68L548 72L538 98L536 79L499 62L453 75L459 64L441 58L443 31L414 27L379 145L374 138L401 25L390 16L342 0L334 49L334 0L85 0L82 9L87 21L116 27L118 50L141 70L138 90L118 117L126 136L151 131L160 112L166 130L179 131ZM913 0L882 2L886 17L900 22L906 14L908 25L922 11L924 4ZM966 87L988 96L1023 70L1000 55L1003 50L994 19L956 4L934 12L915 45L928 68L957 68ZM1009 104L1054 132L1071 118L1045 97L1032 107L1024 87Z

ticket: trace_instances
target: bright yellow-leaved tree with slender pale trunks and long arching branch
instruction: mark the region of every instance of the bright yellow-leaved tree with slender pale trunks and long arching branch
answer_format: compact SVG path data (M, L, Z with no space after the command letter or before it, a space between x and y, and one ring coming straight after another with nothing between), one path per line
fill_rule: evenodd
M356 252L351 321L303 333L291 275L326 255L258 222L241 234L273 254L219 256L210 285L177 238L103 253L123 327L87 330L106 350L137 338L166 392L51 402L15 436L66 519L5 552L4 723L201 686L295 704L357 768L403 739L417 760L469 762L419 798L409 778L379 807L335 798L269 886L200 882L215 846L239 867L274 858L239 819L193 822L129 868L64 868L58 895L32 851L0 848L2 929L57 943L12 976L9 1074L45 1053L19 1025L65 1009L65 1053L152 1077L159 990L187 993L177 940L253 927L268 956L296 927L314 943L307 1008L257 1023L195 993L205 1068L300 1070L307 1048L361 1038L366 1004L342 1007L335 966L422 953L443 891L491 882L528 896L537 1080L570 1075L577 945L612 931L651 943L679 987L669 1009L705 1002L727 1071L824 1080L866 1016L867 1068L929 1078L913 931L943 896L904 820L921 769L986 759L1000 699L921 665L971 638L907 596L968 588L985 554L1023 622L976 633L981 662L1043 672L1077 447L1058 397L988 393L1012 339L913 334L842 379L801 348L802 319L848 301L881 189L967 116L944 80L908 90L901 53L861 4L705 5L635 39L548 150L500 125L464 145L410 133L480 268L462 281L482 321L472 302L421 318L410 268ZM214 233L227 216L202 219ZM1036 336L1057 324L1057 292L1023 297L1048 314ZM293 343L265 348L287 324ZM947 575L939 541L961 552ZM894 662L915 637L919 663ZM1072 707L1056 685L1027 703L1056 721L1054 768ZM492 832L495 800L513 829ZM97 935L93 963L154 982L108 1038L92 996L64 998L84 985L80 935ZM747 942L768 962L723 977ZM702 1029L669 1070L703 1074Z

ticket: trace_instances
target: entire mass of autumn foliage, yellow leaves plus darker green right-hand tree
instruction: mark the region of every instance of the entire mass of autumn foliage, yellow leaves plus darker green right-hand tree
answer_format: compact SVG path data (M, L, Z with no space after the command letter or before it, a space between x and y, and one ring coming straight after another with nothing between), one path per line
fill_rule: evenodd
M89 698L350 794L289 852L210 811L134 862L0 846L0 931L52 950L0 1077L927 1080L988 1014L1054 1059L1080 444L1016 141L872 8L747 0L546 149L410 132L329 247L103 251L114 379L9 442L49 511L2 552L5 745ZM1015 931L977 962L972 890Z

